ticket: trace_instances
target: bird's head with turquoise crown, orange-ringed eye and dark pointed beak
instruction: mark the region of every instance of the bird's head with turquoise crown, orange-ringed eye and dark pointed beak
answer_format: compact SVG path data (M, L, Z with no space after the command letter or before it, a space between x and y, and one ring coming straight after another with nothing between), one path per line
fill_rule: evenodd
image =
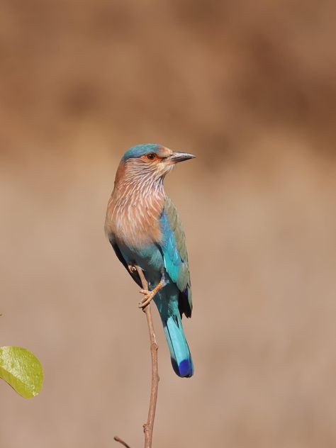
M128 177L133 179L163 179L175 164L194 157L187 152L172 151L162 145L147 143L127 150L121 159L121 166Z

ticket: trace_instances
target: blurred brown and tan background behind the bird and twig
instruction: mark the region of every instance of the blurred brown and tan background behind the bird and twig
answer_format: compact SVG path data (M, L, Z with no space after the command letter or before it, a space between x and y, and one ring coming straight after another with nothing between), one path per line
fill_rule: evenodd
M4 448L142 446L138 287L103 235L123 152L194 152L184 222L196 374L169 362L155 447L336 445L335 2L2 0L1 345L45 369L0 383Z

